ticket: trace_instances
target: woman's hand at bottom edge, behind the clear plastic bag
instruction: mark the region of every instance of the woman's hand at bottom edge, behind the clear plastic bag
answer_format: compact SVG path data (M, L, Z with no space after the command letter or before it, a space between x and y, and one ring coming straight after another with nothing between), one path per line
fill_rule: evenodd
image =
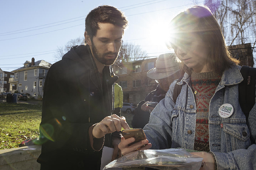
M191 154L203 158L202 167L200 168L200 170L214 170L214 159L212 154L208 152L191 152Z

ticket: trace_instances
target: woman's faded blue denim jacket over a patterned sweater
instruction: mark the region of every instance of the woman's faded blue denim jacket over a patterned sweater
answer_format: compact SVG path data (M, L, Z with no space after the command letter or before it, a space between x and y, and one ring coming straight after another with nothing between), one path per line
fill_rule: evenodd
M256 169L256 104L250 111L248 128L238 98L238 84L243 80L240 69L240 66L233 65L223 72L209 103L209 146L218 170ZM175 83L183 84L176 104L172 99ZM228 118L222 118L218 113L224 103L234 108ZM151 149L193 149L196 110L190 76L185 73L180 82L175 80L170 85L165 98L152 111L149 124L143 129L152 144Z

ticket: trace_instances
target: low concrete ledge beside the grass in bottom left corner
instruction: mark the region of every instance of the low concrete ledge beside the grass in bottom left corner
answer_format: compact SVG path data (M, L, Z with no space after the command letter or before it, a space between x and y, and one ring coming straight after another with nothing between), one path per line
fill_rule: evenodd
M41 154L41 145L24 146L0 150L0 169L2 170L40 170L36 160Z

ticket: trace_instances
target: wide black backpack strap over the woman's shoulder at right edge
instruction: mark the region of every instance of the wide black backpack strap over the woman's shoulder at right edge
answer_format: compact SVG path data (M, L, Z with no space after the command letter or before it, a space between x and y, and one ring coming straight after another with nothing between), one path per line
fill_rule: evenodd
M243 65L240 70L243 81L239 83L239 104L246 116L246 122L255 103L256 68Z

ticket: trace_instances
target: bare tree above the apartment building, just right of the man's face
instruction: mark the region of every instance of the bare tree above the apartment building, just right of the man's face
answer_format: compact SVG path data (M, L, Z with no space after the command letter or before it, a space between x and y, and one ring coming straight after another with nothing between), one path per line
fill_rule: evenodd
M147 57L147 52L143 51L139 45L122 41L122 46L115 63L143 60L145 57Z

